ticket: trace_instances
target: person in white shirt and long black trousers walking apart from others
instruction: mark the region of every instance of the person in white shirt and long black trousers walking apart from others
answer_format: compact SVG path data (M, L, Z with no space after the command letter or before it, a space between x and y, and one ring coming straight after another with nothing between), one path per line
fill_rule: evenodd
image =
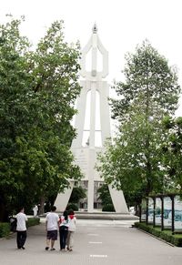
M16 215L16 243L18 250L25 250L25 240L26 240L26 224L27 217L25 215L25 209L22 207L18 214Z

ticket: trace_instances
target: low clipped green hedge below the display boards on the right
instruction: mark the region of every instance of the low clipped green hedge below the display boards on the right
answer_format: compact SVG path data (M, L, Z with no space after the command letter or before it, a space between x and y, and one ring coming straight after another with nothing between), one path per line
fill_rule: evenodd
M147 233L154 235L155 237L165 240L177 247L182 247L182 234L172 234L171 230L161 230L160 228L153 228L152 225L146 223L135 223L135 227L147 231Z

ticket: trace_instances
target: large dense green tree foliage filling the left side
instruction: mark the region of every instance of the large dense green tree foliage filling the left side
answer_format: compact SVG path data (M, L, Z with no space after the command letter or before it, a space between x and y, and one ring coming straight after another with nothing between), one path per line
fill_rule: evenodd
M79 46L66 43L56 21L33 51L21 23L0 25L0 194L7 211L56 196L69 178L81 178L70 151Z

